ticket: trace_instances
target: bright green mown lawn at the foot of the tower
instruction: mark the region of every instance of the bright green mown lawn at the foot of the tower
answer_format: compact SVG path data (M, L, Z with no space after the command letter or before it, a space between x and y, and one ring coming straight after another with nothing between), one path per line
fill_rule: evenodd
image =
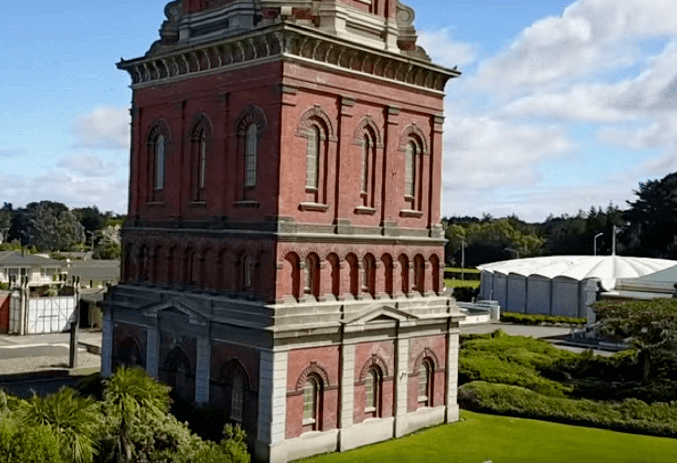
M312 463L673 463L677 439L461 411L462 421Z

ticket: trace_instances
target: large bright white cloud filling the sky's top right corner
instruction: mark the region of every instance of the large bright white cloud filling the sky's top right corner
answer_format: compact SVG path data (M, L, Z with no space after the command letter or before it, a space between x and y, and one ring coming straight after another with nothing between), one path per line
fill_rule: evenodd
M525 28L484 60L472 85L495 93L566 87L582 76L635 64L637 39L677 35L674 0L579 0Z

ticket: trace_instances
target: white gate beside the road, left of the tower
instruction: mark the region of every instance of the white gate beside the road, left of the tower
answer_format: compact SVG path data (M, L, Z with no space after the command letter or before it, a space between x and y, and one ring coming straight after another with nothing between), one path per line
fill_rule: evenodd
M27 334L58 333L75 321L75 298L37 297L28 299Z

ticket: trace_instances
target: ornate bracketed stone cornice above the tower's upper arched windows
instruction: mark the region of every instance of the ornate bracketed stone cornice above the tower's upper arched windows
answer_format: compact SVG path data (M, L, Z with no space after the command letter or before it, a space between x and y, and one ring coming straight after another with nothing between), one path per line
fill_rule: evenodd
M234 37L192 46L177 46L165 53L122 60L133 89L292 59L357 73L402 85L442 93L460 71L423 60L358 45L346 39L296 24L275 24Z

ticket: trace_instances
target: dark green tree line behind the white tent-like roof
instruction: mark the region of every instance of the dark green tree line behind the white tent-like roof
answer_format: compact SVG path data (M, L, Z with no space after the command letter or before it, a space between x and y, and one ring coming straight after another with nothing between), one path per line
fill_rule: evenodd
M510 215L495 219L443 219L448 240L447 264L482 265L519 257L611 255L616 227L617 255L677 259L677 173L639 183L636 198L621 209L591 206L576 215L550 215L542 223L527 223ZM465 252L462 255L461 248Z

